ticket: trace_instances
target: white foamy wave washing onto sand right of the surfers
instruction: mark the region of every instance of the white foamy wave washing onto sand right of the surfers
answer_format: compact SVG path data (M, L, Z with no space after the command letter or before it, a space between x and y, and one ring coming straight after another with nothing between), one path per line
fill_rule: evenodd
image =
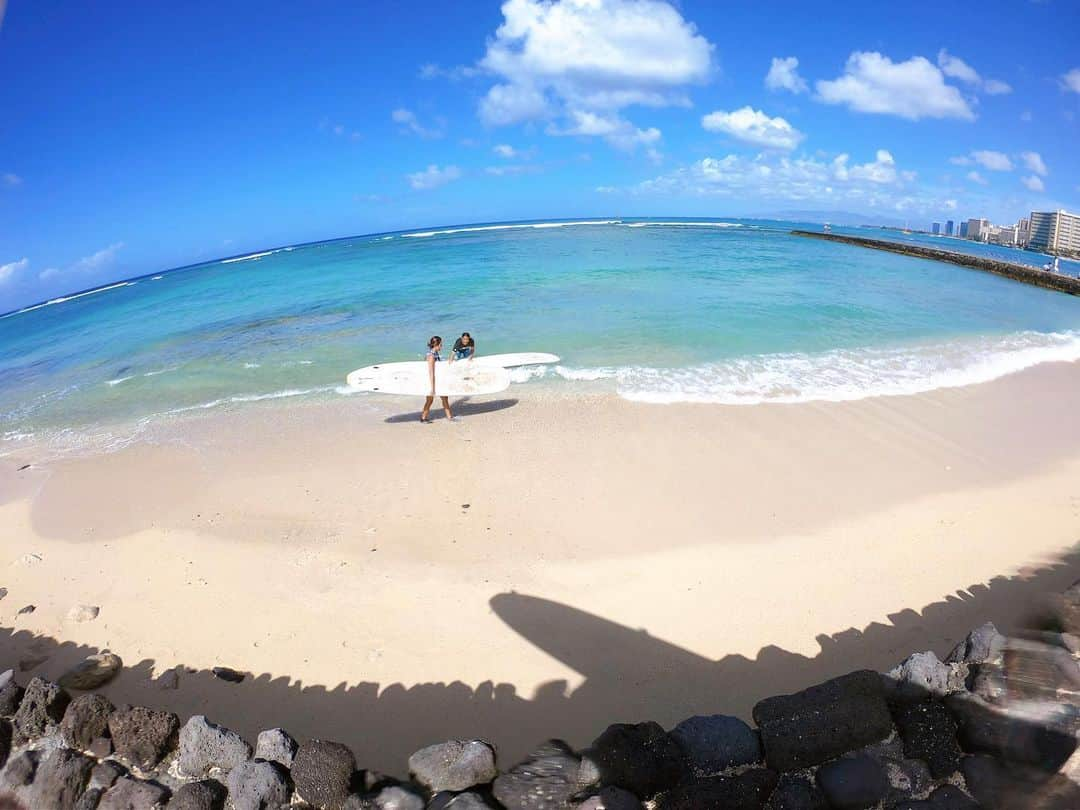
M1040 363L1080 360L1080 332L1024 332L913 347L764 354L681 368L556 366L570 381L613 380L648 403L848 402L989 382Z

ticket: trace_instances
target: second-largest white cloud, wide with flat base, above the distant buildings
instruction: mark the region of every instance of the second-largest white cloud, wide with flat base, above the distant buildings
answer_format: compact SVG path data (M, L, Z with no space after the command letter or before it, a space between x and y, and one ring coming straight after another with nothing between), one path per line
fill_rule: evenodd
M815 84L819 100L846 104L859 112L921 118L959 118L975 113L960 91L945 83L944 73L922 56L894 63L876 52L856 51L848 57L843 76Z

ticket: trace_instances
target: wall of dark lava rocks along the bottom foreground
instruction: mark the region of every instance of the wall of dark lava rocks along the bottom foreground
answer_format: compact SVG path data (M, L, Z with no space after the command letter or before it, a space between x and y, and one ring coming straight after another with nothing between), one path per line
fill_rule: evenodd
M920 652L883 675L768 698L755 726L617 724L582 751L552 740L504 770L489 743L450 740L413 754L403 780L364 770L337 742L275 728L253 746L203 716L72 698L41 678L23 687L8 672L0 807L1080 808L1080 583L1040 627L1005 637L985 624L945 660Z

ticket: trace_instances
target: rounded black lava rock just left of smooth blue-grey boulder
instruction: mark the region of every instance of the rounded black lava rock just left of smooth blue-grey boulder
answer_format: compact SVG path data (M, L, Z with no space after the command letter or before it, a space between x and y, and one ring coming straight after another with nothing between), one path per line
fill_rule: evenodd
M640 799L676 785L687 773L683 750L656 723L616 724L583 753L598 784L630 791Z

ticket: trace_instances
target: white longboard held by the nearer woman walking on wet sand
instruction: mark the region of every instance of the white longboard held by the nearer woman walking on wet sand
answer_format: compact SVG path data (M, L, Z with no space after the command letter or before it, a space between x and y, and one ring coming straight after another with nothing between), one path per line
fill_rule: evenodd
M357 368L346 381L361 391L380 394L427 396L431 393L428 363L380 363ZM499 365L478 363L435 363L435 396L496 394L510 387L510 372Z

